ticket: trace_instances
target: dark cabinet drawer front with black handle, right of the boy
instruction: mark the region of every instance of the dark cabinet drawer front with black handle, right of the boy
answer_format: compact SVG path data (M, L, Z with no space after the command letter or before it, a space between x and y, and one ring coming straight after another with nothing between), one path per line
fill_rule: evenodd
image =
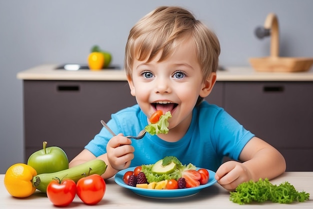
M312 82L226 82L225 110L276 148L313 148Z

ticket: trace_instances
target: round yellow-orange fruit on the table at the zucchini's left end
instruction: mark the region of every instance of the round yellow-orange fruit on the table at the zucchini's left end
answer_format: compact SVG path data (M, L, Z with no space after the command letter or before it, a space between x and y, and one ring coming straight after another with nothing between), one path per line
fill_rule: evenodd
M36 175L36 170L27 164L13 164L5 172L4 186L14 197L30 196L36 190L31 182L32 177Z

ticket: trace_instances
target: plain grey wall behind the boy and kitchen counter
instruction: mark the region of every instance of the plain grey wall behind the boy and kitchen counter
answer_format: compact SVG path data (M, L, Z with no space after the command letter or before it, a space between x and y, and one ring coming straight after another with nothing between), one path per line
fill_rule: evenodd
M0 0L0 173L26 160L16 73L40 64L85 63L94 44L122 66L130 28L162 5L185 7L215 31L221 65L248 66L249 57L269 54L269 39L257 40L253 31L270 12L279 19L280 55L313 57L310 0Z

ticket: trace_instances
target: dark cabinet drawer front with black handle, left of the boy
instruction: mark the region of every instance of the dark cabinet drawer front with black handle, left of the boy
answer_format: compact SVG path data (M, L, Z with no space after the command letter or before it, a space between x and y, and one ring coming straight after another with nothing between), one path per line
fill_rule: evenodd
M112 113L135 104L126 81L24 81L25 148L83 149ZM28 156L25 156L26 159Z

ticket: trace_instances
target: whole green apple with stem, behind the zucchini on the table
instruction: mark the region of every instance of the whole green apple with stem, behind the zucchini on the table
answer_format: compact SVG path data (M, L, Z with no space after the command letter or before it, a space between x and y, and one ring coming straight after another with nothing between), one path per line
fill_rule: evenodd
M33 167L37 174L53 173L68 168L68 158L65 152L57 147L46 147L47 142L43 142L43 149L32 153L27 164Z

